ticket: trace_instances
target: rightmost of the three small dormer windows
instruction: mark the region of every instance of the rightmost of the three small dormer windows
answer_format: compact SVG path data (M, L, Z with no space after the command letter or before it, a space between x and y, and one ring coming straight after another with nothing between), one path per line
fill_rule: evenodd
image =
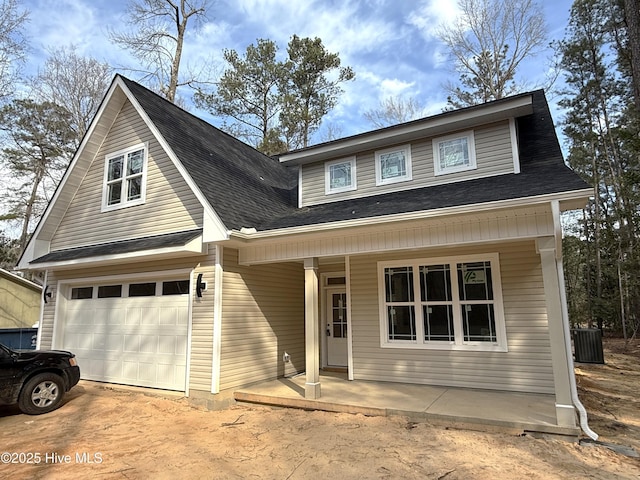
M464 172L476 168L476 149L473 131L435 138L433 162L436 175Z

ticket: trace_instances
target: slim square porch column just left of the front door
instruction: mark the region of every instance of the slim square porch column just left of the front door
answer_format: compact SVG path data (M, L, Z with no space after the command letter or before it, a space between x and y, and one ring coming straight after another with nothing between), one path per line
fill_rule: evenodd
M307 381L305 398L320 398L320 325L318 323L318 259L304 259L304 338Z

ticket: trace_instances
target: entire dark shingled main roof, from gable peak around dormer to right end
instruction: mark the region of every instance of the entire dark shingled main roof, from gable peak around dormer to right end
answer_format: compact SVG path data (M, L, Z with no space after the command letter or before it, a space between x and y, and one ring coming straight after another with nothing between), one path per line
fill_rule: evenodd
M258 230L270 230L588 188L564 164L544 93L539 90L531 93L533 114L517 120L520 134L519 174L297 208L295 170L261 154L141 85L125 78L123 80L214 210L231 229L255 227Z

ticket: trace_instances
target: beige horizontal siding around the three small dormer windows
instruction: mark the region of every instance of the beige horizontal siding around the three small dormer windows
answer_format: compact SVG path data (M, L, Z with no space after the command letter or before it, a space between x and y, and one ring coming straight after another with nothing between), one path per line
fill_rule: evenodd
M436 177L433 168L433 143L432 139L428 138L411 144L412 179L410 181L376 186L375 151L362 152L356 155L358 189L331 195L325 195L325 162L304 165L302 167L302 206L513 173L513 152L508 121L476 128L474 137L476 170Z

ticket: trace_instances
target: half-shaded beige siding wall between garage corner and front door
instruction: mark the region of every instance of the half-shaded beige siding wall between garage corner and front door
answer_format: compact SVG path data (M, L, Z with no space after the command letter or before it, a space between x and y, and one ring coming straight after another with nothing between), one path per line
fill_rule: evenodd
M241 266L228 248L223 262L220 390L304 371L302 265Z

